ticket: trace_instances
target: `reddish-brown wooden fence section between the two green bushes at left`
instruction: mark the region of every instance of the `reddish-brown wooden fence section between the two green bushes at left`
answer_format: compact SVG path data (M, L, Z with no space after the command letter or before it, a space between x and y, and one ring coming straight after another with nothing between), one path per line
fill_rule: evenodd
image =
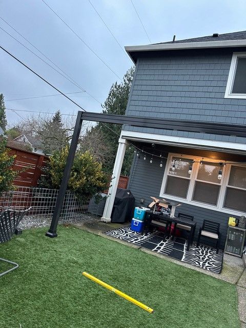
M20 187L36 187L37 181L42 174L42 167L47 165L48 156L9 147L9 155L15 155L13 169L20 171L13 185Z

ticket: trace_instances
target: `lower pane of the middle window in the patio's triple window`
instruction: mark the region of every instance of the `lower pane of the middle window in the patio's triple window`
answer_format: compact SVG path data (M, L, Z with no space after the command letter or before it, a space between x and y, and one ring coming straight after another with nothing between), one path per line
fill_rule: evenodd
M206 204L216 205L220 186L211 183L196 181L193 200Z

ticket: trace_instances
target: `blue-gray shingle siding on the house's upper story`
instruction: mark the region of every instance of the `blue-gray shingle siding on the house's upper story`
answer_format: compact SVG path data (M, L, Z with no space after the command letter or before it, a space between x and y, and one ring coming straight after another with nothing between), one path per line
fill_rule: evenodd
M139 57L128 115L246 124L246 99L224 98L233 51L163 52ZM246 138L194 132L124 127L124 130L241 142Z

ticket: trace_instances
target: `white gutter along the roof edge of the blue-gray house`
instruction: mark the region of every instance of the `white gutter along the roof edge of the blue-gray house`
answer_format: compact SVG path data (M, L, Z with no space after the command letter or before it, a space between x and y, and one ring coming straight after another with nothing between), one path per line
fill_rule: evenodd
M156 50L179 50L179 49L202 49L202 48L228 48L246 47L246 40L222 40L222 41L203 41L187 43L168 43L144 46L126 46L126 51L156 51Z

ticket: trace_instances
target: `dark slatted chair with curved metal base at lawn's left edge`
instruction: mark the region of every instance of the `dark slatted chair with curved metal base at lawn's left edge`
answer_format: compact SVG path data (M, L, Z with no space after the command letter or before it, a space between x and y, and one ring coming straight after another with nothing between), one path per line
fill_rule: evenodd
M28 211L30 211L30 209L31 208L25 211L5 210L0 214L0 243L6 242L12 238L19 224L19 221L23 219L23 217L27 214ZM6 260L4 258L0 258L0 260L14 265L13 268L0 273L0 277L6 273L9 273L10 271L13 271L14 269L17 269L19 266L17 263Z

